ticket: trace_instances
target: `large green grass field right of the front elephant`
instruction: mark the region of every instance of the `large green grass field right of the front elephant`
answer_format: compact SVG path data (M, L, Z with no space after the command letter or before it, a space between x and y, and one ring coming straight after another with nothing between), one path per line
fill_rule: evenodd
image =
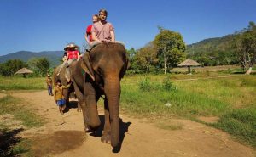
M255 147L256 76L205 79L207 75L201 74L195 81L177 81L181 77L189 79L181 75L129 76L122 81L121 106L138 116L191 120L202 115L218 116L220 120L212 126ZM164 81L167 77L172 81L168 90Z

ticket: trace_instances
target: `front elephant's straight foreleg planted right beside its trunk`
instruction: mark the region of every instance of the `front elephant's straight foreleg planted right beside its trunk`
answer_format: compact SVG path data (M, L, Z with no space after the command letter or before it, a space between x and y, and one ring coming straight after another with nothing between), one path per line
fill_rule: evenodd
M105 124L102 135L102 143L111 143L111 127L110 127L110 115L108 109L108 100L105 98L104 100L104 113L105 113Z

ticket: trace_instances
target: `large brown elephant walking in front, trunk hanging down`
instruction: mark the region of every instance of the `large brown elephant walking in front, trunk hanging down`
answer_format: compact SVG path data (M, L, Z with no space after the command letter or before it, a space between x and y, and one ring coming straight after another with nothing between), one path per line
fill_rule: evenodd
M105 124L101 141L111 143L113 148L119 144L120 81L127 66L125 46L113 42L96 45L89 53L84 53L78 64L70 65L71 73L74 72L71 75L74 88L84 97L81 109L85 131L95 131L100 126L96 103L105 95Z

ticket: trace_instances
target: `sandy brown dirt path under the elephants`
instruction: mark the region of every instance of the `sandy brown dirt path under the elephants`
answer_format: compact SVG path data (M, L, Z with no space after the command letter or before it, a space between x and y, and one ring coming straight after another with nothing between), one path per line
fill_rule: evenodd
M70 109L59 114L46 91L13 95L31 102L28 105L48 121L21 135L35 139L32 149L38 156L255 156L252 148L233 141L227 133L195 121L170 120L169 123L182 127L164 130L155 123L127 115L120 115L121 147L113 151L109 144L101 142L101 132L85 135L82 113Z

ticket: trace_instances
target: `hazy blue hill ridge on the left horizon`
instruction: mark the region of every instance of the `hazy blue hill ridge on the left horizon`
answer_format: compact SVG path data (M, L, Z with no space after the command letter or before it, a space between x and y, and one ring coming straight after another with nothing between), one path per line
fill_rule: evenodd
M60 60L63 56L63 51L43 51L39 53L30 52L30 51L19 51L16 53L9 53L3 56L0 56L0 63L6 62L9 59L20 59L24 62L27 62L32 58L46 58L49 60L50 66L55 67L58 64L61 64Z

